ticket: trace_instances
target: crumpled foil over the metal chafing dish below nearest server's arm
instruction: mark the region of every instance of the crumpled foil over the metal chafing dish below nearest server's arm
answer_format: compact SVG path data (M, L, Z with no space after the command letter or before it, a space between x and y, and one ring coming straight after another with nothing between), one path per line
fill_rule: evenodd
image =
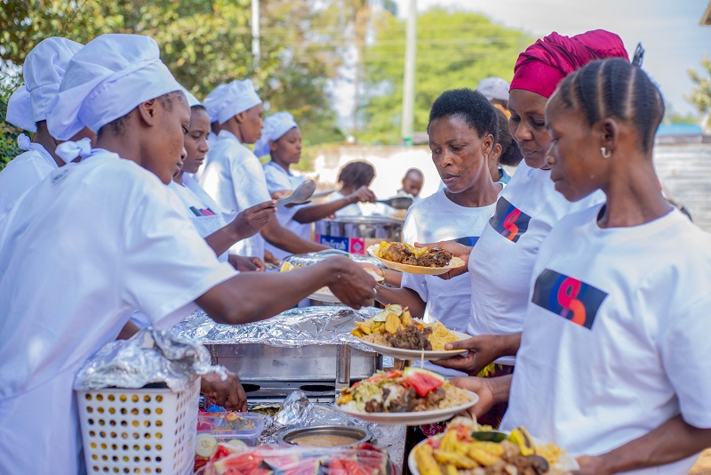
M372 351L350 334L356 320L365 321L374 317L379 309L366 307L361 310L348 307L305 307L286 310L276 317L245 325L220 325L212 321L204 311L180 322L175 329L195 342L204 344L262 343L279 347L305 345L348 344L353 348Z

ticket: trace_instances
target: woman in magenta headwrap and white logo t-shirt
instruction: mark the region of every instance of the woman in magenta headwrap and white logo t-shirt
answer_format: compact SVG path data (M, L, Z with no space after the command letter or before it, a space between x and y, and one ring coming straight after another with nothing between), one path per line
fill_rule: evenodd
M467 374L477 374L494 360L514 364L540 243L563 216L604 199L596 192L571 203L555 190L544 159L552 143L544 119L546 101L563 77L591 60L608 57L627 60L624 44L613 33L595 30L571 37L551 33L516 61L509 129L524 161L501 192L496 213L476 246L442 244L468 262L472 299L467 334L474 338L452 344L452 349L467 349L467 356L438 364ZM449 272L445 277L454 275Z

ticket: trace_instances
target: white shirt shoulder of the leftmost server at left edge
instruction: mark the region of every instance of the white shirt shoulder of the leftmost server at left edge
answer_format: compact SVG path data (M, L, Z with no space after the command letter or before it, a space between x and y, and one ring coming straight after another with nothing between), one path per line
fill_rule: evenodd
M39 143L18 155L0 171L0 224L25 192L58 169L52 155Z

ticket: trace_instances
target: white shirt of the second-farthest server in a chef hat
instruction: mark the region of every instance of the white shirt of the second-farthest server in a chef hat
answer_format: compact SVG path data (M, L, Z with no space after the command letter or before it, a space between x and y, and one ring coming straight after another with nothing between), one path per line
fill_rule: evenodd
M238 213L271 199L259 158L226 130L220 131L217 143L207 153L207 165L199 180L220 205L225 222L232 222ZM264 238L258 233L243 239L230 247L230 252L264 259Z

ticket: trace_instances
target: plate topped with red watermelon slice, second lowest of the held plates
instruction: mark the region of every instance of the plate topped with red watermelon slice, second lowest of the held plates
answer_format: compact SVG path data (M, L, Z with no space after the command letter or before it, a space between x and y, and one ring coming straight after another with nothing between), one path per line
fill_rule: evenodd
M419 425L451 419L479 397L424 368L378 371L340 392L336 407L369 423Z

